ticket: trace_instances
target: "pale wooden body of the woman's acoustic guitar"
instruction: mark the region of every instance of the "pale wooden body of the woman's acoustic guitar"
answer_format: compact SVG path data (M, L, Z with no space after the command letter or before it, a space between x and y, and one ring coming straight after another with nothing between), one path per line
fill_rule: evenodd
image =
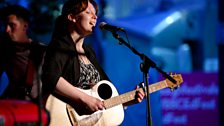
M114 85L106 80L98 82L91 89L80 90L102 101L119 95ZM46 109L50 112L50 126L118 126L124 119L122 104L91 115L79 115L73 107L53 95L48 97Z

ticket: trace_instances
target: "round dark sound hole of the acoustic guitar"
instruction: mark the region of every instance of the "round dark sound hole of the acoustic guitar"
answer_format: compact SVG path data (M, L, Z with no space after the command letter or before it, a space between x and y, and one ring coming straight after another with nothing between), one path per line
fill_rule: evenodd
M98 87L98 95L100 98L106 100L112 96L112 89L107 84L101 84Z

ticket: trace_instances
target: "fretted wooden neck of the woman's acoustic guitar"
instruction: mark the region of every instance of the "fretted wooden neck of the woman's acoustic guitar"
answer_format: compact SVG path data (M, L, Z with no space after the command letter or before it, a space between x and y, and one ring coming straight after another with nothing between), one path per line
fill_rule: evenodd
M166 87L168 87L168 86L167 86L167 83L165 80L151 84L148 86L148 88L149 88L148 94L156 92L156 91L161 90ZM144 87L144 88L146 90L146 87ZM143 91L142 88L139 88L139 90ZM104 101L104 106L106 109L108 109L108 108L114 107L119 104L127 103L129 101L134 100L135 95L136 95L136 90L133 90L133 91L124 93L122 95L112 97L112 98Z

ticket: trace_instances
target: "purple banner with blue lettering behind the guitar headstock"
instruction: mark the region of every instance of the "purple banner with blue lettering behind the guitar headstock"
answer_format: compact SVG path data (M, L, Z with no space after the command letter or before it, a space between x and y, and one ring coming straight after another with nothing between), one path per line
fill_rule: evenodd
M218 126L218 74L182 74L183 83L161 90L163 126Z

